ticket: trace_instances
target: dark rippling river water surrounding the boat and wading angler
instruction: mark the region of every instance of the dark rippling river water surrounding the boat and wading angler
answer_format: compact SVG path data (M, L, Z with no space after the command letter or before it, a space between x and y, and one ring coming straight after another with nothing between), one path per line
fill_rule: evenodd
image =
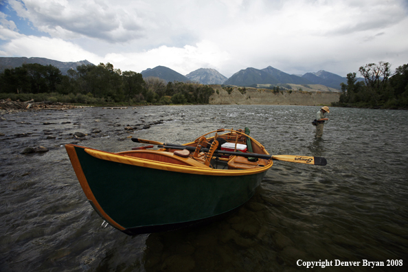
M315 140L318 109L144 106L1 115L0 271L304 271L297 264L319 260L332 261L326 271L406 271L408 111L332 107L323 139ZM124 130L137 124L152 125ZM160 234L131 237L101 227L63 147L78 142L117 152L137 146L130 135L183 144L245 126L273 155L325 157L328 165L274 161L236 214ZM88 136L76 139L76 131ZM36 146L49 151L20 154ZM363 260L384 267L363 267ZM387 267L387 260L403 266Z

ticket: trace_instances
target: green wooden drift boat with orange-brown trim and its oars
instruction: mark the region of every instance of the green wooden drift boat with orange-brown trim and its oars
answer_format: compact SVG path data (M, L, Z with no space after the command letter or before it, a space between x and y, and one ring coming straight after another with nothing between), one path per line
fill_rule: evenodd
M234 211L253 196L272 159L326 164L319 157L271 156L247 128L212 131L183 145L132 140L160 148L113 153L65 146L93 209L128 235L201 225Z

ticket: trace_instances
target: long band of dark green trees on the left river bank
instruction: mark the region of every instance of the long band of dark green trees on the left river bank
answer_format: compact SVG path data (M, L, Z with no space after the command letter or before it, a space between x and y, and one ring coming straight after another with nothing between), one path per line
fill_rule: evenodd
M214 89L196 82L166 82L115 69L80 65L63 75L52 65L23 64L0 73L0 98L81 104L208 104Z

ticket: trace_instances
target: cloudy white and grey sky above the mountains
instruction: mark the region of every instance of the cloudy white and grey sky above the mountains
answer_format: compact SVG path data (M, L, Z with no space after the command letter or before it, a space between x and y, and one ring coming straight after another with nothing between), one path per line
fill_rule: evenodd
M0 56L230 77L408 63L407 0L0 0Z

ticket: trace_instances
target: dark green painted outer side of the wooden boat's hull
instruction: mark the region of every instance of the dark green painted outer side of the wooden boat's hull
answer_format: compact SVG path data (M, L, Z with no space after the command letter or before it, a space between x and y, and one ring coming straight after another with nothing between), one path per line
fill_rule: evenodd
M129 235L200 225L223 216L253 196L266 172L190 174L99 159L80 146L75 150L95 196L91 205Z

